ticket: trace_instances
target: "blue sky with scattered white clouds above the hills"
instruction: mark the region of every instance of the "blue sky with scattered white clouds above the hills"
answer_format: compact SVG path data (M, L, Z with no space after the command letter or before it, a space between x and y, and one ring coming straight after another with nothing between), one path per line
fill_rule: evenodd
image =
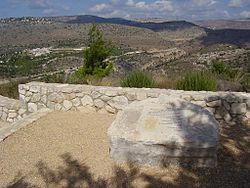
M250 0L0 0L0 17L97 15L211 20L250 18Z

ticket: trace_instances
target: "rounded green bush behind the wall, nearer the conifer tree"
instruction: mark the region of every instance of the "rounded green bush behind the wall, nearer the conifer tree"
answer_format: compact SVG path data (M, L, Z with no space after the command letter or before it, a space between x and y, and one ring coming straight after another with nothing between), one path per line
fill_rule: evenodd
M152 88L155 82L153 77L145 72L134 70L121 80L122 87Z

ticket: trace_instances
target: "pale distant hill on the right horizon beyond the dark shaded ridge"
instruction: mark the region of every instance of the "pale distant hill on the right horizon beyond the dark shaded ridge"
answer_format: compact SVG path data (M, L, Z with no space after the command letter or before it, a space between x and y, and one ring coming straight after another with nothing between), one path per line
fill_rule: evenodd
M246 20L206 20L197 21L196 24L210 29L249 29L250 19Z

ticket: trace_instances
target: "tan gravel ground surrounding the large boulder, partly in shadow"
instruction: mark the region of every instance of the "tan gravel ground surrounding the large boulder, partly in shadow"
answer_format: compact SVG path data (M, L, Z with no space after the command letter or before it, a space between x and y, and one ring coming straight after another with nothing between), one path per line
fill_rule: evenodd
M218 167L117 165L106 131L115 116L51 113L0 143L0 187L250 187L250 130L223 125Z

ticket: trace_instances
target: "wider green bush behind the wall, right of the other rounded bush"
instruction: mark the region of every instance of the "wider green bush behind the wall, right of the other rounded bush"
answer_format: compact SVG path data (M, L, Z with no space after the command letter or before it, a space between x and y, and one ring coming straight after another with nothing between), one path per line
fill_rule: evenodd
M189 72L177 82L177 89L186 91L215 91L216 80L210 72Z

